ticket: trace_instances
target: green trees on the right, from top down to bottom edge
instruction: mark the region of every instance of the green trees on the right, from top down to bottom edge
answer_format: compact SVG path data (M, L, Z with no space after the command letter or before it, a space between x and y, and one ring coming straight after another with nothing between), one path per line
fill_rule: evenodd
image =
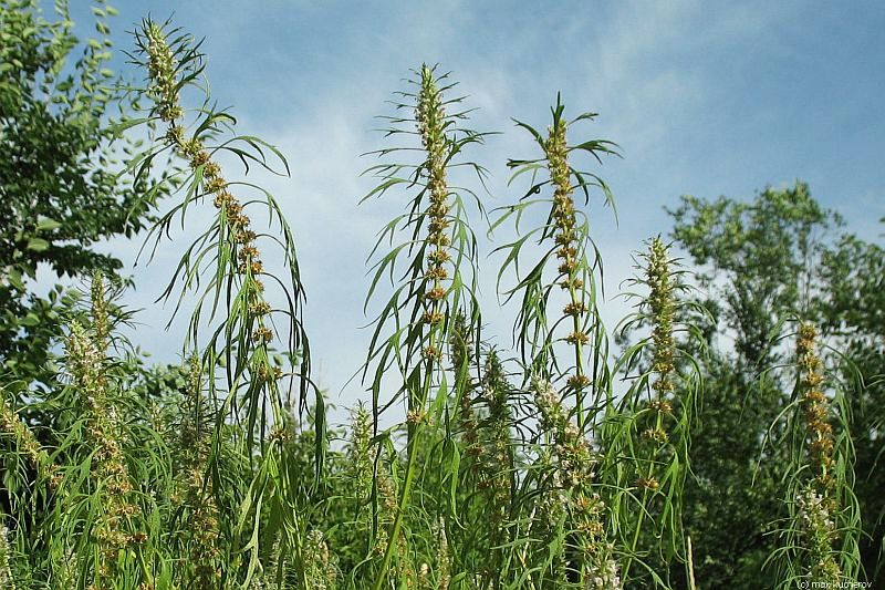
M793 376L772 368L790 354L777 343L790 332L784 322L791 318L821 323L826 341L850 351L854 364L839 354L831 362L843 376L852 377L856 366L865 379L853 380L858 386L851 390L850 428L864 522L882 539L873 524L882 510L874 486L882 485L875 441L883 423L873 410L881 404L871 403L882 398L875 390L885 309L881 249L841 235L844 221L803 183L766 188L752 201L687 196L668 213L673 237L700 268L699 302L715 323L707 331L704 406L693 433L696 477L685 498L697 578L757 587L774 548L772 524L782 516L779 467L788 446L778 444L783 434L778 416L789 403ZM876 569L877 544L864 548L867 570Z

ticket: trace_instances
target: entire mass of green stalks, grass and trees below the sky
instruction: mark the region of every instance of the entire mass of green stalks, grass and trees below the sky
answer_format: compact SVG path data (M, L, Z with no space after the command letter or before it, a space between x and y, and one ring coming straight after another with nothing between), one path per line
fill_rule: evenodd
M487 210L487 134L421 65L367 170L363 206L404 213L371 252L371 400L337 426L311 379L296 236L248 177L287 176L283 155L212 106L188 33L144 20L146 83L122 89L103 40L64 61L59 9L0 0L0 144L18 158L0 164L0 587L883 581L885 256L805 185L684 197L610 337L592 221L615 197L594 170L618 152L582 135L596 115L556 96L545 132L518 123L537 153L508 162L516 193ZM164 298L190 310L184 362L147 369L121 335L119 263L93 245L145 228L149 257L178 224L196 237ZM512 351L482 321L489 250ZM40 262L88 288L34 297Z

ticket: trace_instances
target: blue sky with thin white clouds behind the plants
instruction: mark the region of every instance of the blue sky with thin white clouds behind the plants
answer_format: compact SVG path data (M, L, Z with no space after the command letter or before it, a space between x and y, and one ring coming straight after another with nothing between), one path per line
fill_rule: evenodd
M493 175L490 207L519 196L507 187L507 158L534 155L510 117L545 127L558 91L573 114L600 113L581 133L612 139L624 154L596 170L615 194L620 226L598 200L590 210L610 294L632 273L642 240L668 231L663 208L683 194L751 198L802 179L866 238L885 217L885 4L877 0L114 6L118 49L131 46L122 31L148 12L205 37L215 99L231 106L241 133L288 156L292 178L267 184L295 232L316 376L336 403L361 395L358 384L344 384L367 343L358 329L364 259L397 210L391 200L357 207L372 187L360 177L371 162L358 155L389 145L372 132L373 116L389 112L384 101L421 62L452 72L467 104L479 107L475 128L504 132L473 155ZM82 6L74 14L88 19ZM175 338L160 330L167 311L150 301L169 271L164 260L184 241L133 270L131 303L149 308L135 338L160 360L175 360ZM111 247L132 262L138 242ZM507 343L493 289L485 300ZM624 310L613 301L605 314L612 321Z

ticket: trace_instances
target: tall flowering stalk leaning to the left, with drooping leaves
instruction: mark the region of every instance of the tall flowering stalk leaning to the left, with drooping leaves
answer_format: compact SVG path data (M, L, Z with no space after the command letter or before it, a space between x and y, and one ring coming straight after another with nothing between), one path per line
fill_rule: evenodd
M171 39L171 41L168 41ZM271 351L274 342L283 342L289 359L294 363L300 358L300 373L294 371L288 376L300 382L301 406L305 404L305 394L310 382L310 352L306 334L300 321L299 304L303 299L303 289L299 278L298 261L293 239L282 211L273 197L266 190L246 182L230 182L217 162L217 155L230 153L240 158L248 169L249 163L258 164L266 169L278 173L266 158L264 151L277 156L288 174L289 168L282 155L272 146L251 136L237 136L218 145L210 145L221 128L232 123L232 117L212 108L198 110L198 121L192 134L181 123L185 110L179 103L179 91L197 84L204 64L189 35L178 34L176 30L167 30L164 25L145 20L137 34L137 42L143 55L142 65L148 72L147 92L154 99L154 107L148 121L156 121L166 126L166 133L158 148L148 151L136 158L131 167L138 174L149 169L153 159L163 152L171 153L187 163L189 172L183 203L164 216L155 232L157 239L163 235L173 217L180 214L194 201L211 199L216 209L210 228L191 246L176 270L176 277L167 288L166 297L173 292L174 284L180 276L184 279L184 292L197 287L205 275L208 275L207 287L202 290L190 320L190 330L186 346L197 345L198 328L205 319L204 307L209 307L209 318L215 318L223 298L227 312L221 324L216 328L202 353L202 365L208 371L208 391L212 401L219 397L219 376L221 369L227 381L227 396L222 400L222 411L216 421L215 438L225 429L225 421L242 421L241 431L244 453L253 456L256 435L261 432L261 455L257 469L251 474L250 489L241 504L241 515L237 528L239 535L249 539L238 551L248 557L246 580L250 580L259 570L258 536L261 529L260 510L267 501L280 510L282 530L279 532L285 542L280 546L283 555L291 556L294 569L301 582L308 584L308 573L302 549L305 525L300 515L289 510L294 496L302 489L301 482L290 479L289 469L281 469L287 464L290 437L287 421L285 400L280 381L287 375L280 366L272 362ZM241 200L235 190L258 190L263 197L271 222L280 225L282 239L270 237L282 245L284 262L288 271L287 281L275 278L264 268L259 240L267 238L252 229L252 220L247 214L250 204L256 200ZM191 259L192 258L192 259ZM282 288L282 298L288 308L277 310L266 294L266 280L271 280ZM179 299L180 301L180 299ZM275 318L275 321L274 321ZM223 369L222 369L223 368ZM315 483L321 479L322 441L325 436L323 401L316 392L316 412L314 420L317 447L315 453ZM268 407L269 406L269 407ZM268 413L268 410L270 411ZM264 433L268 433L264 436ZM212 447L218 443L214 442ZM209 455L206 468L218 477L218 455ZM266 497L267 495L267 497ZM219 498L220 499L220 498ZM249 515L244 518L242 515ZM232 568L237 568L237 560ZM280 567L283 567L282 560Z

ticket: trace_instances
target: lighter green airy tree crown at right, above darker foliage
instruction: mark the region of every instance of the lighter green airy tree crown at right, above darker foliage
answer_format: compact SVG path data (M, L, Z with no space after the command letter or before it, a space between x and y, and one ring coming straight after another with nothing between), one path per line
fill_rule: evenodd
M752 203L686 196L668 213L674 239L706 268L697 278L735 338L736 359L749 370L775 361L772 332L785 317L812 311L810 265L824 247L816 238L842 219L803 183L767 188Z

